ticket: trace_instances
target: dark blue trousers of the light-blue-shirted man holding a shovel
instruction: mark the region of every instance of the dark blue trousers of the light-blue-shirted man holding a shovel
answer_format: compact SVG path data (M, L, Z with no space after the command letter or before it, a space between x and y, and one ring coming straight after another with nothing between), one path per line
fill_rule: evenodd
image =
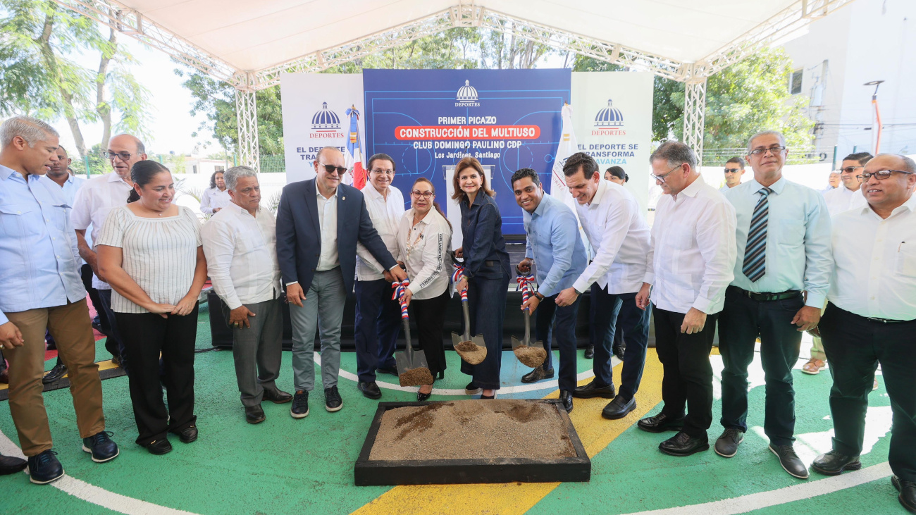
M560 348L560 389L572 392L575 389L575 318L579 312L579 299L572 305L558 307L557 296L545 297L538 304L535 314L538 317L535 325L535 339L544 343L547 349L547 359L544 361L544 370L552 368L553 356L551 353L551 334L557 336L557 346Z

